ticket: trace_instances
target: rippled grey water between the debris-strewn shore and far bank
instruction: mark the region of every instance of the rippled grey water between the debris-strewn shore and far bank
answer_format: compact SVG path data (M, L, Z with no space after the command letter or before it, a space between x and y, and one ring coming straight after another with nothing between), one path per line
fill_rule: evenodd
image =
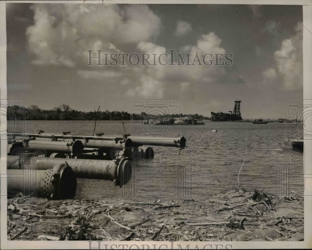
M244 159L239 175L242 187L265 189L274 194L275 165L289 162L290 190L304 189L303 178L293 177L303 173L303 153L289 161L286 157L288 150L281 148L285 123L205 123L170 127L170 135L178 136L180 129L181 135L187 139L188 148L181 150L178 159L174 158L178 152L176 148L153 147L154 159L136 162L133 177L126 187L119 188L111 181L79 179L76 198L118 201L128 195L143 202L158 198L175 200L179 195L191 194L195 200L205 200L224 190L221 185L237 186ZM94 121L25 121L25 128L24 122L16 121L15 125L15 132L34 133L41 129L51 134L70 131L71 135L92 135ZM125 121L124 125L126 133L142 134L141 121ZM152 130L161 128L161 125L152 126ZM217 129L217 133L213 133L213 129ZM287 131L296 135L296 124L287 123ZM104 132L104 136L121 136L124 128L120 121L97 121L95 133L100 132ZM270 148L278 153L276 161L266 158L266 151ZM153 178L149 177L150 174Z

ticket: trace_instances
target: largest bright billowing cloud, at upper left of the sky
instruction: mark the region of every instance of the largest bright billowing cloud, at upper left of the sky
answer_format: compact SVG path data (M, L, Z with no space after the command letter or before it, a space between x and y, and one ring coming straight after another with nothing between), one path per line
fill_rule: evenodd
M27 28L32 62L75 67L87 62L88 49L121 52L129 44L158 36L160 19L147 5L33 4Z

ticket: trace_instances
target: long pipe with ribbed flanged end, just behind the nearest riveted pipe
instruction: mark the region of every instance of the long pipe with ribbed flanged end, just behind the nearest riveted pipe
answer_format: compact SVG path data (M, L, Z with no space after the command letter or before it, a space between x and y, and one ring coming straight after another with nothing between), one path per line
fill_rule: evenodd
M36 164L38 170L48 169L60 163L68 163L76 174L77 178L90 178L111 180L118 185L128 183L131 177L132 162L126 158L120 160L89 160L69 158L30 158L30 162ZM28 162L26 163L28 164ZM7 157L7 168L21 167L23 163L13 157Z

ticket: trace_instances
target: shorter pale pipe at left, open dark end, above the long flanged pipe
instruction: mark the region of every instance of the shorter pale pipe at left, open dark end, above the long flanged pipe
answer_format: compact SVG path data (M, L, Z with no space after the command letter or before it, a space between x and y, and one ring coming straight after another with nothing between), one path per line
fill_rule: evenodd
M58 141L37 141L29 140L23 142L25 150L32 151L42 148L48 153L72 153L80 155L83 152L83 144L80 140L72 143Z

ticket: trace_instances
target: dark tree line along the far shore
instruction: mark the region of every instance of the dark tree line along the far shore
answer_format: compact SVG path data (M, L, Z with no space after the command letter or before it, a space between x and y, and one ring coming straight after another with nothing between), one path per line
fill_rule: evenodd
M40 109L37 105L31 105L28 108L20 106L9 106L7 107L7 120L146 120L152 118L164 117L161 115L149 115L142 112L141 114L130 114L124 111L77 111L72 109L67 104L54 107L51 110ZM198 114L170 114L171 118L185 117L198 119L198 120L209 120L210 118L204 117Z

